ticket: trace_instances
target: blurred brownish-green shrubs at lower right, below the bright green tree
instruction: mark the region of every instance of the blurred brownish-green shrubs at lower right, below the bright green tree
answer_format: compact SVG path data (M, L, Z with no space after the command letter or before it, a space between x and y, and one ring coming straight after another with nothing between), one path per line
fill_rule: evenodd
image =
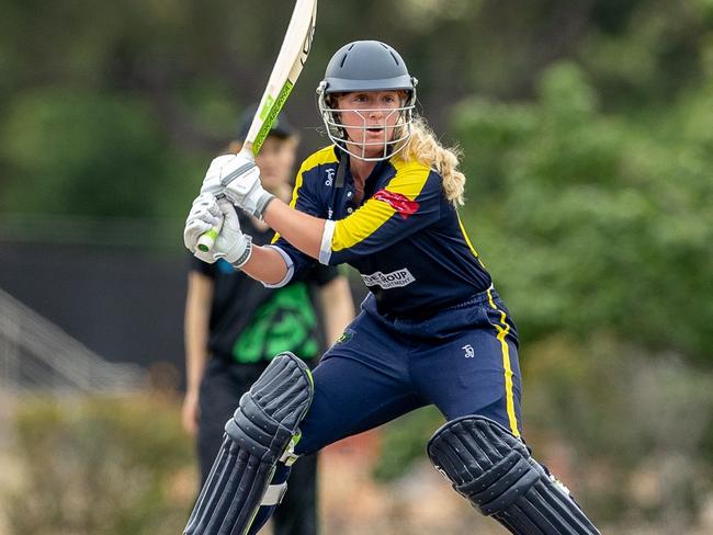
M711 373L608 335L550 337L528 355L525 430L541 460L602 521L689 533L711 490Z

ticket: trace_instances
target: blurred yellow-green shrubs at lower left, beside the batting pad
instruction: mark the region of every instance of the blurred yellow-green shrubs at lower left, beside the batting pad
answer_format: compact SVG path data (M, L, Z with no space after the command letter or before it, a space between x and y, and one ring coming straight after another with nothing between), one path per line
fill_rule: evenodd
M24 403L23 483L3 500L10 533L180 533L195 482L176 405L156 394Z

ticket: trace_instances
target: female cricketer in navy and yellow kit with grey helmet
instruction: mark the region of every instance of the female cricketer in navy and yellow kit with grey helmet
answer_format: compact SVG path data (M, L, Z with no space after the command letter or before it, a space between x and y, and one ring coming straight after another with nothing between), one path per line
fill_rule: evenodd
M301 455L434 405L446 423L428 455L483 514L518 535L599 534L522 441L516 326L459 218L457 156L414 112L416 84L384 43L340 48L317 89L333 145L304 161L288 205L248 157L208 168L189 250L270 286L348 263L370 294L312 374L284 353L241 398L185 533L257 533ZM252 246L230 203L276 239ZM196 251L212 227L213 250Z

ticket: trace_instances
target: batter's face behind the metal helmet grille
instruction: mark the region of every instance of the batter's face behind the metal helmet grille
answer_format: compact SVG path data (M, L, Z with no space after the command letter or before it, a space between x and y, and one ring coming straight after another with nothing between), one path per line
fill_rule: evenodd
M403 91L358 91L337 98L340 122L348 145L355 152L373 157L384 152L385 144L394 138L401 114Z

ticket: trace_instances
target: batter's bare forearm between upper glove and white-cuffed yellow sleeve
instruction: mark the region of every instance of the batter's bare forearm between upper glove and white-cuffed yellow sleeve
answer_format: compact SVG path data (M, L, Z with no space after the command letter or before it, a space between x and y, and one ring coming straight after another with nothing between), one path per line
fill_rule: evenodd
M264 212L264 220L302 252L314 259L319 258L325 219L296 210L282 201L274 200Z

